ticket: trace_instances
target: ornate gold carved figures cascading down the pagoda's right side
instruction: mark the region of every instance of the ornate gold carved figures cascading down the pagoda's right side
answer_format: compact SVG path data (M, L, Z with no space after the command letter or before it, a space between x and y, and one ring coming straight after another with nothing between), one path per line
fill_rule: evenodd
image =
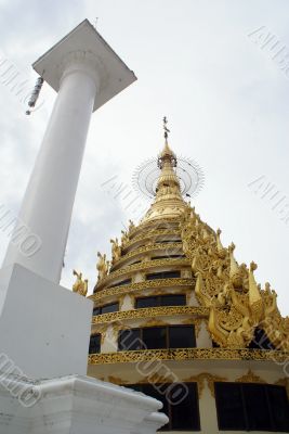
M257 284L257 265L238 265L235 245L221 243L221 230L214 232L201 221L188 204L181 217L183 251L195 273L196 296L210 309L208 329L220 347L246 348L262 329L274 348L289 352L289 317L281 317L276 293L268 283ZM261 343L262 345L262 343Z

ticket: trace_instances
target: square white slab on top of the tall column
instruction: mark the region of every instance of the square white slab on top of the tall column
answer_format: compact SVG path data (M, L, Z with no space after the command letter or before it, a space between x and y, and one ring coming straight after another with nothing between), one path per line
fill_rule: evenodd
M84 20L65 38L47 51L34 68L56 92L64 71L87 72L97 77L97 98L93 111L101 107L134 80L135 75L108 46L92 24Z

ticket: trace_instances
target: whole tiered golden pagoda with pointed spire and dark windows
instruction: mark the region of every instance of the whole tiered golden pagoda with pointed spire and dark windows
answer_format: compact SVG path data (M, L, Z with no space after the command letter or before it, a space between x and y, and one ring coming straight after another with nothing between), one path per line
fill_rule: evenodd
M163 432L289 433L289 318L185 202L165 138L154 203L97 254L88 374L161 400Z

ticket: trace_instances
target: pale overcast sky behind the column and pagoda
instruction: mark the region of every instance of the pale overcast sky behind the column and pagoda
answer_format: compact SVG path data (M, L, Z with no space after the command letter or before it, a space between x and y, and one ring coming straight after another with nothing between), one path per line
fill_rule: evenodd
M272 283L288 315L289 2L0 0L0 56L31 87L31 63L86 17L97 17L139 78L92 116L62 283L71 286L76 268L92 291L96 252L109 253L109 239L136 217L102 184L117 176L131 188L134 169L163 145L167 115L171 148L206 174L193 205L222 229L224 245L234 241L240 263L259 265L258 281ZM17 213L56 94L44 85L44 102L28 117L1 82L0 202ZM1 258L6 244L0 231Z

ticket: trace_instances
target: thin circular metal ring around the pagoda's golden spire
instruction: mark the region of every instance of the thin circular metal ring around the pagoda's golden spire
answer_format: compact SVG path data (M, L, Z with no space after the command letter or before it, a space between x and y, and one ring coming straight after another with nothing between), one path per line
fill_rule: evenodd
M174 170L180 179L182 195L195 197L205 183L205 174L198 163L187 157L178 156L178 165ZM154 199L159 175L160 169L157 159L146 159L133 173L132 184L134 190L146 199Z

